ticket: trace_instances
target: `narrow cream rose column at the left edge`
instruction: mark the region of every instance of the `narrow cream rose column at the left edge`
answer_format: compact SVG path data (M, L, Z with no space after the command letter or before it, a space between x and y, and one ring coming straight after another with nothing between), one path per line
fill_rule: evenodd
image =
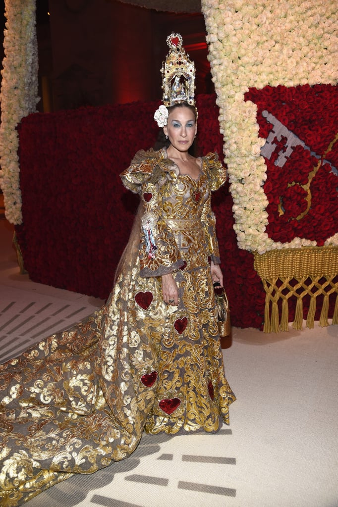
M22 223L18 135L21 118L36 111L38 98L38 46L35 0L6 0L6 36L1 86L0 185L6 218Z

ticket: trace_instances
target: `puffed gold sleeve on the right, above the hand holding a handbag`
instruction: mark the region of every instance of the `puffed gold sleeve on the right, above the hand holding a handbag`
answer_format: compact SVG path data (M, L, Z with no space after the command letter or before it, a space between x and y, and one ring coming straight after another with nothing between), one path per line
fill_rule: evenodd
M227 172L218 160L217 153L209 153L203 157L205 171L208 175L210 190L218 190L226 182ZM216 216L211 209L211 192L204 203L201 221L205 229L211 260L214 264L220 264L219 247L216 236Z

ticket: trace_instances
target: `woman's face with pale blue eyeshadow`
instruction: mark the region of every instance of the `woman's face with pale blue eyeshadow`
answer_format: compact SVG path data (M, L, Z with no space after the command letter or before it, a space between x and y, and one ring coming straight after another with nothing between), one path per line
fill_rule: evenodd
M197 132L197 123L189 107L176 107L172 110L163 132L174 148L180 152L188 151Z

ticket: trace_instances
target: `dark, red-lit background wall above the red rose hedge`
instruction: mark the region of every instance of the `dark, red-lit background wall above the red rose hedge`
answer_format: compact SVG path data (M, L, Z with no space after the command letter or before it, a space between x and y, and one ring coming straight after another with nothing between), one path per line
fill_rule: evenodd
M3 0L0 8L3 13ZM3 38L4 16L1 22ZM117 0L37 0L39 111L160 99L160 68L172 31L182 34L195 62L196 94L212 93L200 12L163 12ZM2 61L2 45L1 51Z

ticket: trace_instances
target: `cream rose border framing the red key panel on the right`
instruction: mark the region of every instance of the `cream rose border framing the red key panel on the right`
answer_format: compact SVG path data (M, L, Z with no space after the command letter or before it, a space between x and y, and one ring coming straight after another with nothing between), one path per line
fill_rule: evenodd
M335 84L336 0L202 0L209 60L220 108L224 154L240 248L315 246L295 238L275 242L265 233L266 166L258 137L257 107L244 101L250 87ZM325 244L338 245L338 234Z

